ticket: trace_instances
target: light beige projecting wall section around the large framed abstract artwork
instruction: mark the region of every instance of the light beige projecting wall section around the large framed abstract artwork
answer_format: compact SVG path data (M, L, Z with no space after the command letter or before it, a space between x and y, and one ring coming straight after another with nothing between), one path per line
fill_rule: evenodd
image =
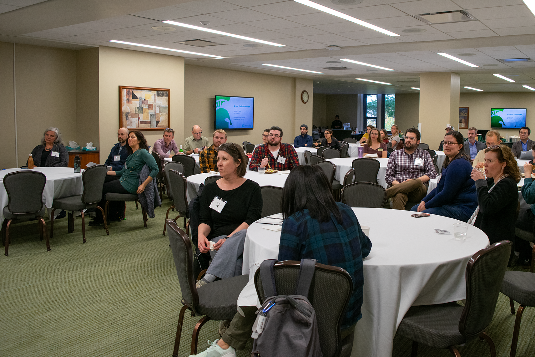
M99 130L101 163L117 143L119 86L169 88L170 124L180 145L184 138L184 57L100 47L98 52ZM144 131L149 146L162 131Z

